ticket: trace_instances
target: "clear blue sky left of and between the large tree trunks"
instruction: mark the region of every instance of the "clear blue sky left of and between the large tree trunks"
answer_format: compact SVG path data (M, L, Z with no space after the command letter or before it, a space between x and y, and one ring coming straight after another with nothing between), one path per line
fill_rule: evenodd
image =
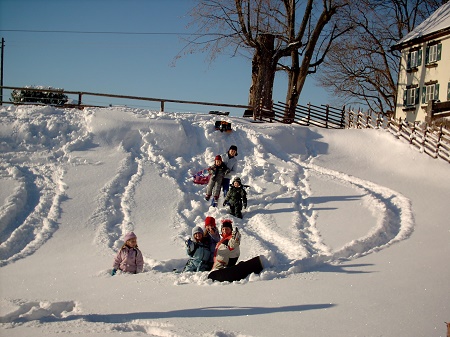
M224 55L209 63L202 53L175 56L189 33L191 0L0 0L0 37L5 39L4 85L42 85L70 91L111 93L186 101L247 104L251 63ZM30 31L128 32L75 34ZM277 75L274 101L284 101L286 76ZM9 99L4 91L4 99ZM86 97L90 104L119 104ZM300 103L332 104L306 82ZM128 102L129 104L130 102ZM158 102L136 103L159 109ZM135 105L134 105L135 106ZM166 103L165 111L243 109Z

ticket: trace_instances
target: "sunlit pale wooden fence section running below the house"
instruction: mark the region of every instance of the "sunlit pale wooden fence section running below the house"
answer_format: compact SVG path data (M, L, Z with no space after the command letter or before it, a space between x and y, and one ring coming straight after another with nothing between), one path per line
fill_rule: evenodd
M382 128L398 139L409 142L433 158L441 158L450 163L450 131L442 125L436 127L427 123L418 125L395 120L382 114L346 112L346 127L357 129Z

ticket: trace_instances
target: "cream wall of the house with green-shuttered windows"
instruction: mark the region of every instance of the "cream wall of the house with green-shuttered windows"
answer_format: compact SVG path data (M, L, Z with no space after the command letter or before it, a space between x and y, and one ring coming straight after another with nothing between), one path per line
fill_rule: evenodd
M424 121L428 100L450 100L450 35L401 52L395 117Z

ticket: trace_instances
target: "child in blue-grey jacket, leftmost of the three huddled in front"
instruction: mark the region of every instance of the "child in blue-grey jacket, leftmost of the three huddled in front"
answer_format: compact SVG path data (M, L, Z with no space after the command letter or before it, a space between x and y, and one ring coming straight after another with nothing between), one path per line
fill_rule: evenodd
M208 271L211 270L210 243L203 235L203 229L195 226L192 229L192 240L189 238L185 242L186 252L190 256L184 266L183 271Z

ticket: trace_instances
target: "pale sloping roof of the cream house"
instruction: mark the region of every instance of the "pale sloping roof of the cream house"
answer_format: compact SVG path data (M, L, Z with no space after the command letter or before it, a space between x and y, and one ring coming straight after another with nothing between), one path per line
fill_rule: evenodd
M439 7L428 19L392 46L392 49L400 50L445 33L450 33L450 1Z

